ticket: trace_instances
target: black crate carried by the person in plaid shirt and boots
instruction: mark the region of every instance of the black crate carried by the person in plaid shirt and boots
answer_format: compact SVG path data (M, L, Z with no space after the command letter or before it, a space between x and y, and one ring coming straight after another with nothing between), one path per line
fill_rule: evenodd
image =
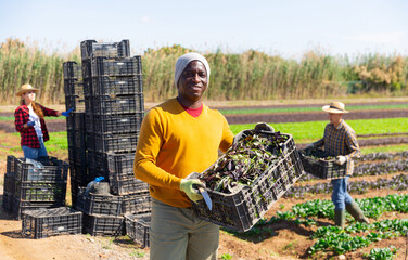
M322 150L302 151L299 154L305 172L309 174L326 180L346 177L348 161L337 165L335 158L327 159Z

